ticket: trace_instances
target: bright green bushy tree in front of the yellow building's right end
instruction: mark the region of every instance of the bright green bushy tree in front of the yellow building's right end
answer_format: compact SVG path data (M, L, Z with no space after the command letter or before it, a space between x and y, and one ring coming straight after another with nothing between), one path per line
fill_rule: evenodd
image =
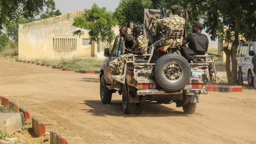
M99 8L93 4L91 9L85 9L85 13L74 18L73 26L80 28L73 34L81 36L83 30L89 30L91 41L106 41L111 44L115 38L114 30L116 22L113 13L106 11L106 7Z

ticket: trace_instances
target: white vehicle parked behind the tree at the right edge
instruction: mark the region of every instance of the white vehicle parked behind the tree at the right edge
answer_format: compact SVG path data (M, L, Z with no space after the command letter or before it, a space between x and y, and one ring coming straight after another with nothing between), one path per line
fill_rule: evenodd
M239 43L236 49L237 70L242 66L243 80L248 81L249 86L253 86L253 64L252 57L256 52L256 41Z

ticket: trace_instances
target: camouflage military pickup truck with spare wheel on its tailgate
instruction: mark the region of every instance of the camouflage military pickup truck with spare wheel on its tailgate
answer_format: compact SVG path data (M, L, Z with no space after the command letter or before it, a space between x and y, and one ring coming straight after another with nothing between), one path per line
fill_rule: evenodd
M150 9L145 9L149 13ZM155 11L155 10L152 10ZM155 11L156 15L161 13ZM152 12L151 12L152 14ZM153 17L153 16L150 16ZM145 29L145 28L144 28ZM184 36L184 30L171 30L174 39ZM148 35L146 36L148 37ZM124 38L116 36L113 49L104 49L107 57L100 70L100 98L103 104L110 104L112 93L122 95L122 107L125 114L134 112L136 106L143 106L146 102L155 101L159 104L176 103L182 107L184 113L195 112L196 104L200 102L200 95L207 95L205 89L208 81L219 83L223 78L216 74L215 61L212 55L197 55L201 63L188 61L178 53L178 47L169 46L168 52L158 55L153 45L148 47L148 54L130 55L132 61L125 61L124 74L111 78L109 62L124 53ZM147 59L135 60L135 57L146 56ZM112 83L119 83L120 87L108 89Z

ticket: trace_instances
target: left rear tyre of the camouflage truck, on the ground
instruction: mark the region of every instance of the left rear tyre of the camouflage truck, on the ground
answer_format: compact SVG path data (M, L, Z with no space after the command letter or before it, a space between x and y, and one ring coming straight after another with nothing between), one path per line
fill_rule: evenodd
M136 104L130 103L127 82L123 85L122 106L125 114L134 112Z

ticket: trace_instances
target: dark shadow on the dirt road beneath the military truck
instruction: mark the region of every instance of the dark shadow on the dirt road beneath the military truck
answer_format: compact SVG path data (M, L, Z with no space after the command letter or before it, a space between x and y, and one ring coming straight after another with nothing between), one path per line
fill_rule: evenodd
M112 100L111 104L102 104L100 100L84 101L91 109L83 109L94 116L124 116L124 117L164 117L164 116L191 116L183 113L183 109L168 108L157 102L147 102L141 108L137 106L133 114L124 114L121 100Z

